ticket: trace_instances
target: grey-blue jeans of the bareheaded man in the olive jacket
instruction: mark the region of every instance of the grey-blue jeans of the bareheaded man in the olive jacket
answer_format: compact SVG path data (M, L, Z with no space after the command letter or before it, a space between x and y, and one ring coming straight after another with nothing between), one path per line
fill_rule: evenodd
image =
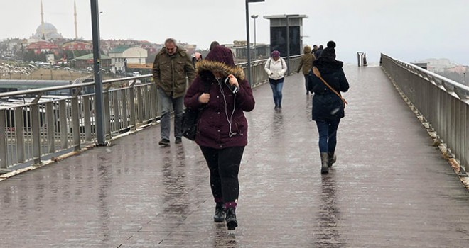
M169 140L171 133L171 108L174 111L174 137L183 137L183 111L184 96L172 98L166 96L163 90L158 89L158 98L161 106L161 139Z

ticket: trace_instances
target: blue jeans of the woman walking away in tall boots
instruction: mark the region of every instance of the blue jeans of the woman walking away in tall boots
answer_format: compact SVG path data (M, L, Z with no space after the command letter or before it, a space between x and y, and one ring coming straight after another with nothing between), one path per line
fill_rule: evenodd
M340 119L316 120L319 133L319 152L335 152L339 123Z

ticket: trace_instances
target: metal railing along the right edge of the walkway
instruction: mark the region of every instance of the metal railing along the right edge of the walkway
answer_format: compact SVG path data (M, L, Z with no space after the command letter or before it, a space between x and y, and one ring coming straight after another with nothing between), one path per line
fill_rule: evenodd
M381 55L382 69L417 108L467 171L469 164L469 87L414 64Z

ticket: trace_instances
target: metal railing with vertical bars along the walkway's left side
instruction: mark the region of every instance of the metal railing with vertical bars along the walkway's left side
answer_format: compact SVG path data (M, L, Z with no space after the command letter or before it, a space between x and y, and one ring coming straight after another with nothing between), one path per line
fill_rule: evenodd
M298 66L299 57L291 57L292 68ZM265 63L252 62L252 87L268 80ZM247 63L238 65L246 73ZM95 94L86 94L94 86L88 82L0 93L0 130L4 130L0 132L0 169L41 164L58 154L95 145ZM72 95L47 95L58 90L70 90ZM106 140L156 123L160 118L156 93L151 74L103 81Z

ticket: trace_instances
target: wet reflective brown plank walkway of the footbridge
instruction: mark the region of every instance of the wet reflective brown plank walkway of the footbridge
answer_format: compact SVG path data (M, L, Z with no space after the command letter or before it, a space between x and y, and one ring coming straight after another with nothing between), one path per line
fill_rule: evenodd
M346 67L338 162L320 174L303 75L254 89L239 227L213 222L189 140L153 125L0 182L0 247L468 247L469 194L379 67Z

